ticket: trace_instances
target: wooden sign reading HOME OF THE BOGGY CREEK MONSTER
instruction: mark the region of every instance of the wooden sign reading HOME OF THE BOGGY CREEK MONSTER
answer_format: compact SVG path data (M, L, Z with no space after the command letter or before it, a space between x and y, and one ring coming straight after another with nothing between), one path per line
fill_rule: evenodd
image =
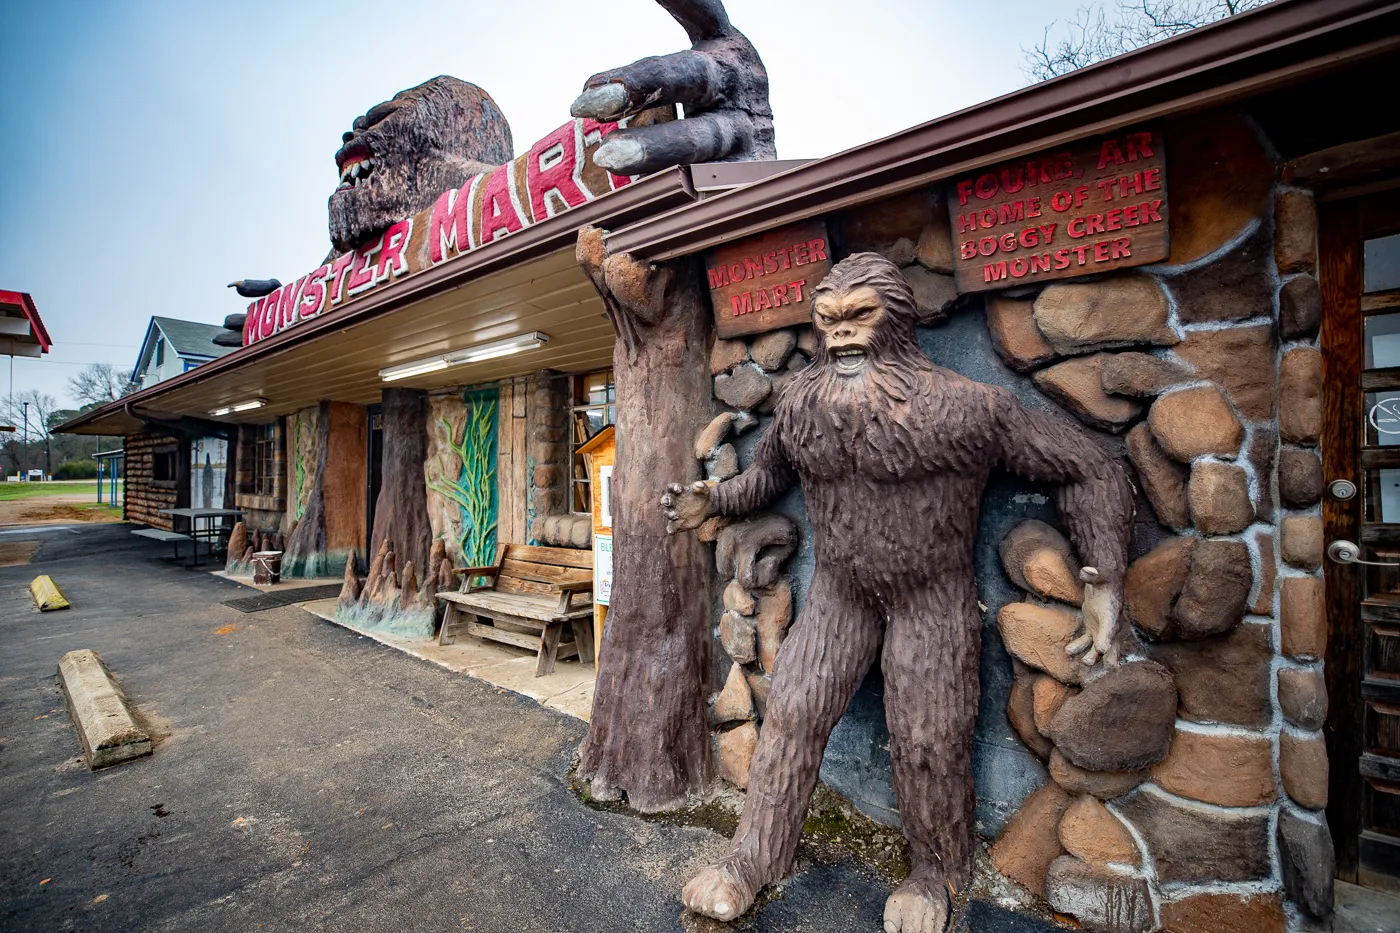
M959 291L1068 279L1168 256L1166 151L1137 127L953 182Z

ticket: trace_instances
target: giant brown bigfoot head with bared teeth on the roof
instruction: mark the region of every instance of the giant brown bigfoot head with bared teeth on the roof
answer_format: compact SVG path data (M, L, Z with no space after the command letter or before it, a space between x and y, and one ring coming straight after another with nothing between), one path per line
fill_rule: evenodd
M507 163L511 127L490 94L440 76L370 108L336 153L330 242L349 252L448 188Z

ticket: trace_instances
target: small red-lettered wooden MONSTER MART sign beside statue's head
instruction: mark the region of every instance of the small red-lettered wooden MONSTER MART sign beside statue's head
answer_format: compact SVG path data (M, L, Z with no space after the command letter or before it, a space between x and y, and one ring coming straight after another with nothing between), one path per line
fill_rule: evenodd
M725 244L706 256L715 332L721 339L806 324L811 290L832 269L820 220Z

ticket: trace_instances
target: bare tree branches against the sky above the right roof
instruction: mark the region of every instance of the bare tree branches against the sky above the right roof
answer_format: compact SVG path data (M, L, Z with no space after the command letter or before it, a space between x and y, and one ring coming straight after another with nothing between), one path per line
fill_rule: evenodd
M1021 50L1021 69L1028 83L1035 84L1266 3L1268 0L1119 0L1114 7L1091 3L1079 7L1072 20L1047 25L1037 45Z

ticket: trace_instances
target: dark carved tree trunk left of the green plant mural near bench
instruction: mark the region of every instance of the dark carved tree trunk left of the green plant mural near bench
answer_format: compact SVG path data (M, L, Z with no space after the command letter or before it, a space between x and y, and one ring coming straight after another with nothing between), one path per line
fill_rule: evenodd
M428 523L428 489L423 478L427 459L427 392L386 388L381 401L384 412L384 485L374 506L374 534L370 553L378 553L385 539L391 542L395 566L409 560L426 567L433 546Z

